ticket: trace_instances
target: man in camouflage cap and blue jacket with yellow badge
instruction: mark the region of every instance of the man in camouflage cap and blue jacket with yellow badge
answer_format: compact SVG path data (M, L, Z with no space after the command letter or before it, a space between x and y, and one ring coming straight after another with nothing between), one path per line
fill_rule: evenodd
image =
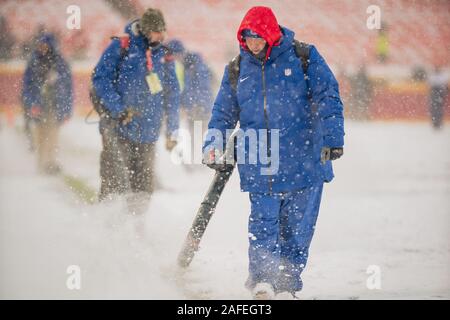
M154 189L155 143L164 113L166 148L176 144L180 90L173 56L162 45L165 30L161 11L147 9L126 26L126 37L112 40L92 77L103 139L99 199L130 193L132 213L146 209Z

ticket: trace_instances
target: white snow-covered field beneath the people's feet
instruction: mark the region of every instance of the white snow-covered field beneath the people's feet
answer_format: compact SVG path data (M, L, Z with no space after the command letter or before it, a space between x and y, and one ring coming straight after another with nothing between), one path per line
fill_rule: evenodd
M3 119L0 119L0 121ZM304 272L303 299L450 298L450 126L346 123ZM99 184L100 136L81 119L61 133L64 171ZM0 129L0 298L247 299L248 195L227 185L191 266L176 257L213 173L188 172L159 146L158 190L137 238L121 200L80 202L36 172L17 128ZM69 290L68 266L81 270ZM381 288L369 290L369 266Z

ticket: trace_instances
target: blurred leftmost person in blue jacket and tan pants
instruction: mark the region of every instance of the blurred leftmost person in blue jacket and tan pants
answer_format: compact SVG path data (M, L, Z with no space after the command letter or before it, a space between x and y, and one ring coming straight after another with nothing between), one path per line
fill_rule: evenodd
M26 130L36 145L41 172L61 170L56 159L58 132L71 117L72 104L70 66L59 52L55 36L43 33L25 69L22 87Z

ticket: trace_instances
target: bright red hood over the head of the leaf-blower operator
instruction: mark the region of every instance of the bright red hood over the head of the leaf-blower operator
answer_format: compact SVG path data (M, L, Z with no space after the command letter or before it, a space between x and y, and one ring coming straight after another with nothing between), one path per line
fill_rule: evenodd
M259 34L269 44L269 50L267 50L267 56L270 55L270 51L274 45L281 38L281 30L278 25L277 18L272 12L272 9L268 7L253 7L251 8L239 27L237 38L242 48L248 50L244 39L242 38L242 31L244 29L250 29L253 32Z

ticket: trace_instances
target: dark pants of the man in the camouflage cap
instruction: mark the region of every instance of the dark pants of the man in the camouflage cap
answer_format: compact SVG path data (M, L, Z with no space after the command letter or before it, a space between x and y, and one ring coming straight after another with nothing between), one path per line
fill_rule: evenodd
M101 120L103 150L100 155L102 201L113 194L153 192L154 143L137 143L118 136L117 122Z

